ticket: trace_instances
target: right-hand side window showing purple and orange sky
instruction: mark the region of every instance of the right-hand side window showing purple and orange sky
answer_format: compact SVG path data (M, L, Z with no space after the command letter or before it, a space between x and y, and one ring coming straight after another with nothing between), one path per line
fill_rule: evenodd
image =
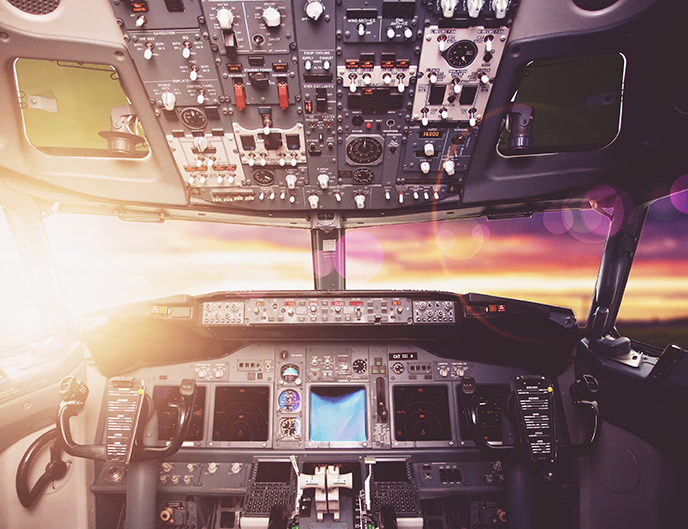
M617 318L621 335L688 348L687 236L688 191L652 204Z

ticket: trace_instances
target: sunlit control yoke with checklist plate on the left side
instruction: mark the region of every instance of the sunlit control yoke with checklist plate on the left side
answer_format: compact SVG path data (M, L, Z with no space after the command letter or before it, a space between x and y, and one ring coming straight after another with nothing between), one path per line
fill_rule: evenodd
M142 423L147 417L148 404L141 380L133 377L113 377L106 387L107 418L105 444L80 445L74 442L69 420L84 407L88 388L72 376L60 382L62 404L57 414L57 432L64 451L75 457L129 464L131 461L164 459L182 446L191 422L191 410L196 396L196 383L184 379L179 387L179 400L169 403L177 410L177 425L166 446L144 446L140 439ZM142 413L146 411L146 413Z

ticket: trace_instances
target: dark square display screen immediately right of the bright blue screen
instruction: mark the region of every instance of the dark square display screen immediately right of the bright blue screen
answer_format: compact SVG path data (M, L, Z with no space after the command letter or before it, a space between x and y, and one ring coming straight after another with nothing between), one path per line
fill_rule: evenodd
M394 386L394 437L397 441L450 441L449 388Z

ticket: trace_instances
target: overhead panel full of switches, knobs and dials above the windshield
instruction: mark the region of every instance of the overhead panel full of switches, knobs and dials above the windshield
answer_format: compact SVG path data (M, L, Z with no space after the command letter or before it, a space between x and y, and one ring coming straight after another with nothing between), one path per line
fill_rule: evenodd
M189 201L460 202L516 0L112 0Z

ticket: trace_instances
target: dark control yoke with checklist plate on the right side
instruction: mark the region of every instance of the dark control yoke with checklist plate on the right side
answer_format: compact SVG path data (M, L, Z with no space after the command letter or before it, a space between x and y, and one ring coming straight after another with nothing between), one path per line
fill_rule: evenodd
M461 381L464 412L476 447L483 453L500 458L523 456L532 462L553 463L557 456L581 457L592 453L599 440L599 409L595 394L599 384L592 375L583 375L569 388L573 405L588 418L588 434L580 444L558 445L554 424L554 386L539 375L521 376L516 379L516 390L509 397L511 409L518 424L520 443L495 445L489 443L478 426L478 406L475 379L464 377Z

